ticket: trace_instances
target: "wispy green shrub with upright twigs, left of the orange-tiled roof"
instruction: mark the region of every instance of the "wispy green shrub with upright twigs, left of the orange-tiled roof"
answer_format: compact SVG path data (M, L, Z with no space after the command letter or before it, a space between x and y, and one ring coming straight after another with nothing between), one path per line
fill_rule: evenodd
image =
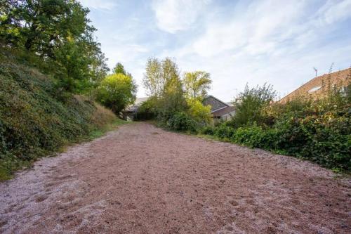
M239 93L234 105L236 107L235 116L231 124L233 126L244 126L253 122L262 123L264 117L262 109L269 105L274 97L275 91L270 85L256 86L250 89L246 84L245 90Z

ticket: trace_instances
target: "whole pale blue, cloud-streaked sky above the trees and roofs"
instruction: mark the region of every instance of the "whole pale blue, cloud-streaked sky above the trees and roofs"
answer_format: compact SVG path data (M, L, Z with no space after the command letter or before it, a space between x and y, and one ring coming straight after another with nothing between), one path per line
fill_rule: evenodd
M351 66L351 0L80 0L110 68L122 63L145 96L147 58L204 70L224 101L272 84L280 97Z

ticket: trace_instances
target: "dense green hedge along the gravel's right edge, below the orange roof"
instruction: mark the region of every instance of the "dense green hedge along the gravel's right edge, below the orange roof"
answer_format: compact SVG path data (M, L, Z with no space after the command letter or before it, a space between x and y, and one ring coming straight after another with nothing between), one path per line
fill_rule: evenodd
M350 171L351 105L340 89L334 90L319 100L300 98L285 104L259 105L258 119L264 119L260 124L246 122L236 127L239 124L222 123L201 132Z

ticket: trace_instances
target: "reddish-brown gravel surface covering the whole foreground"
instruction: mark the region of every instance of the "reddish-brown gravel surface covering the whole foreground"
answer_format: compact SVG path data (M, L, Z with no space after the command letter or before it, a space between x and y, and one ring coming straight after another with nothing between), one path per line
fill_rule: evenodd
M350 233L351 182L293 157L121 126L0 184L0 233Z

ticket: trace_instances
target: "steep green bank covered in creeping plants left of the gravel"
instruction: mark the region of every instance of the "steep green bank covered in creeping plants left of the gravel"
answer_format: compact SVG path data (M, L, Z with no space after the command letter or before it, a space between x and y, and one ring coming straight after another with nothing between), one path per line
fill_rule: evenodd
M0 53L0 181L63 146L121 124L84 96L57 98L53 79Z

